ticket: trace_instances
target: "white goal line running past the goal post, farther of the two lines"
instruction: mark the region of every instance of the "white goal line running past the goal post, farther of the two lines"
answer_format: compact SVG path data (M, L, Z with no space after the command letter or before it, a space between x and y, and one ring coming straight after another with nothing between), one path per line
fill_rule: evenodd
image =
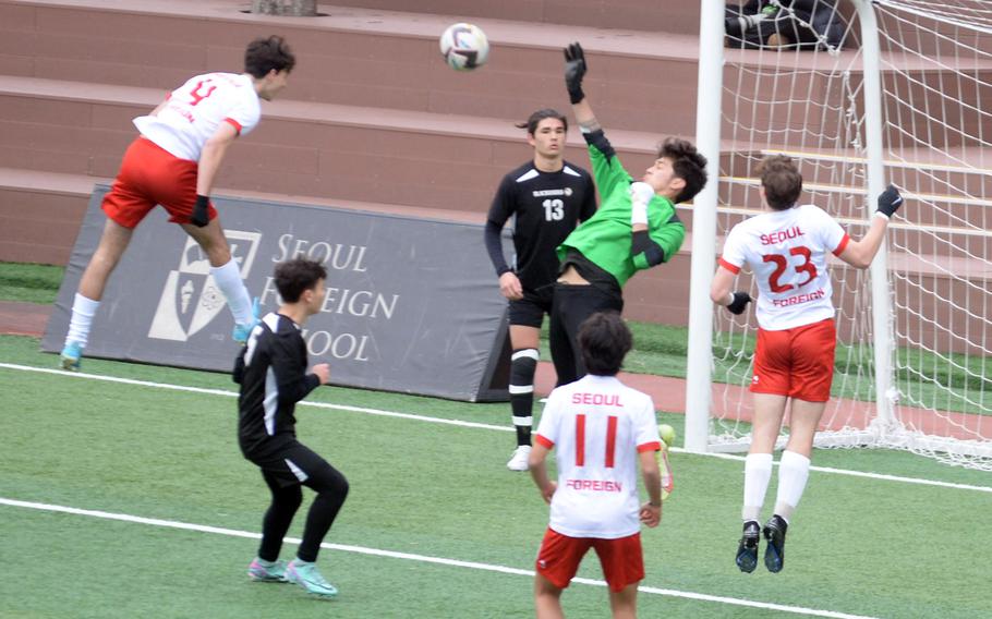
M222 396L226 398L237 398L237 391L228 391L225 389L206 389L203 387L186 387L184 385L170 385L168 383L150 383L148 380L135 380L133 378L120 378L117 376L100 376L97 374L85 374L78 372L65 372L64 369L53 369L50 367L33 367L29 365L19 365L13 363L0 363L0 368L4 369L14 369L20 372L35 372L40 374L56 374L63 378L78 378L85 380L101 380L105 383L118 383L122 385L135 385L137 387L150 387L154 389L168 389L171 391L184 391L189 393L204 393L208 396ZM415 415L411 413L397 413L394 411L380 411L378 409L366 409L362 406L349 406L347 404L330 404L327 402L307 402L302 401L298 405L301 406L312 406L315 409L330 409L335 411L349 411L353 413L363 413L366 415L378 415L383 417L399 417L403 420L412 420L418 422L435 423L435 424L445 424L453 425L460 427L473 427L482 429L492 429L497 432L515 432L509 425L498 426L493 424L482 424L477 422L465 422L461 420L446 420L443 417L432 417L427 415ZM723 460L738 460L743 461L743 456L736 456L731 453L700 453L697 451L686 451L679 447L673 447L670 449L676 453L691 453L693 456L705 456L709 458L719 458ZM811 471L818 471L821 473L831 473L835 475L848 475L851 477L864 477L869 480L880 480L886 482L899 482L904 484L918 484L922 486L937 486L941 488L953 488L956 490L973 490L979 493L990 493L992 494L992 486L972 486L969 484L955 484L952 482L939 482L934 480L923 480L919 477L900 477L898 475L885 475L881 473L866 473L863 471L851 471L848 469L834 469L830 466L810 466Z

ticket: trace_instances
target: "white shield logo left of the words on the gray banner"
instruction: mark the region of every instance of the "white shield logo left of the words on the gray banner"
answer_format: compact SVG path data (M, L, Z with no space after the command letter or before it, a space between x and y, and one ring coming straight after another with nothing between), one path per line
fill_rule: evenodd
M240 267L241 279L247 279L262 234L226 230L225 235L231 247L231 256ZM179 268L169 271L158 300L158 308L148 328L148 337L184 342L226 311L226 306L223 293L210 275L210 263L206 254L196 241L186 238Z

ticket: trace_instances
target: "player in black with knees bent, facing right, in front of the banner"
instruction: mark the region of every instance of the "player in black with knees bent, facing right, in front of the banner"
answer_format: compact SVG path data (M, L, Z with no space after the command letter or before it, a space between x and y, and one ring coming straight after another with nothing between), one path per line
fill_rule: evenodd
M294 409L330 377L326 363L306 373L306 343L300 332L320 311L327 270L312 260L294 259L276 267L282 305L255 326L234 363L238 398L238 442L244 457L262 469L273 502L262 522L258 557L249 566L256 581L294 582L307 592L332 597L338 590L316 569L317 551L348 496L348 482L334 466L297 440ZM282 538L303 502L301 485L317 493L297 558L279 560Z

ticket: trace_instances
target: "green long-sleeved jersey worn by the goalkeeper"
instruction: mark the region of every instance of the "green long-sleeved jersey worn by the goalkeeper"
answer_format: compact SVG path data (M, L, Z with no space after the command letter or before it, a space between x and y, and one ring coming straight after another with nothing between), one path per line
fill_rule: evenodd
M558 246L558 260L564 264L568 251L576 250L586 259L610 274L622 288L639 270L654 266L641 252L631 255L630 183L602 131L586 134L593 178L600 192L600 209L572 231ZM686 227L668 198L655 195L648 205L648 234L661 247L661 262L668 262L686 238Z

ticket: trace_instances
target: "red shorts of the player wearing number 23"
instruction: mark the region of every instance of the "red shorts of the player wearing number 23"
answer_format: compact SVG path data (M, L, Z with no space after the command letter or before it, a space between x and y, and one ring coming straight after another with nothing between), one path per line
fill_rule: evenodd
M833 318L782 331L758 329L751 392L826 402L836 344Z

